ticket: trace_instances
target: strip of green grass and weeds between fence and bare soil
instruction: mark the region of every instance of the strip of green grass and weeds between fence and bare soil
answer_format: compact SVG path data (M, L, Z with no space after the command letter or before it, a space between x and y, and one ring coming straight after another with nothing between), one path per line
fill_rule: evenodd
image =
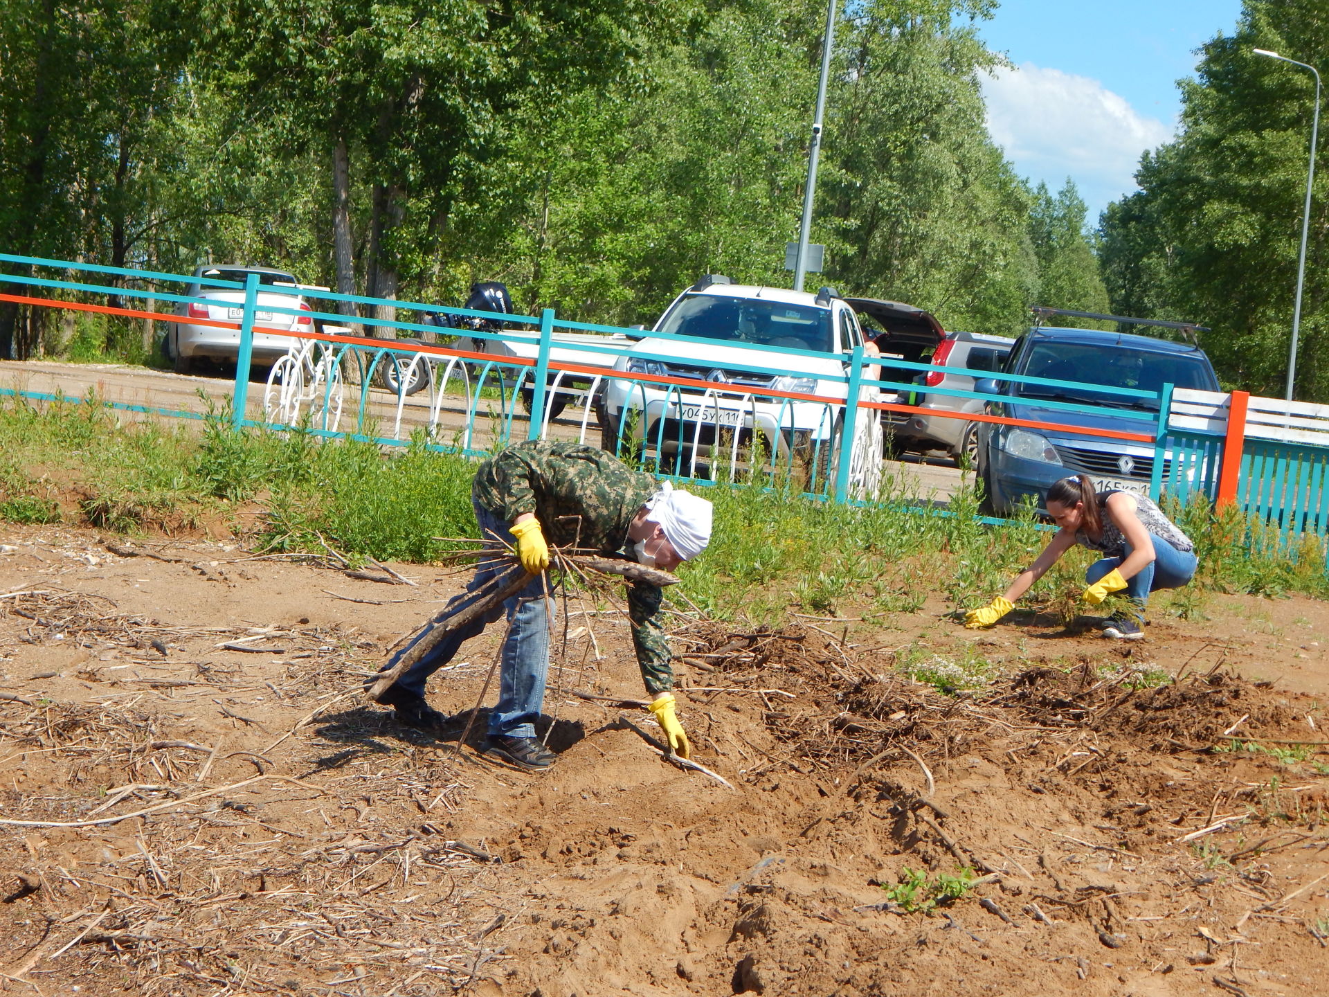
M0 403L0 455L7 521L52 522L62 505L104 529L178 530L258 506L259 525L246 541L263 549L331 546L352 558L417 562L448 549L435 537L476 529L474 461L433 449L423 436L380 448L299 429L235 432L226 411L210 412L199 432L198 424L124 420L98 404L9 399ZM767 481L699 489L715 502L715 533L706 556L679 573L688 598L716 618L767 623L792 606L886 622L937 597L960 611L987 604L1050 538L1029 506L1005 526L979 522L973 480L946 509L928 508L896 479L880 504L864 508ZM1263 524L1203 502L1174 512L1200 545L1201 565L1199 589L1174 594L1174 611L1197 618L1203 593L1213 590L1329 596L1317 540L1275 542ZM1092 558L1067 553L1022 606L1065 618L1082 611ZM909 667L938 689L975 687L990 665L974 651L957 654L933 650Z

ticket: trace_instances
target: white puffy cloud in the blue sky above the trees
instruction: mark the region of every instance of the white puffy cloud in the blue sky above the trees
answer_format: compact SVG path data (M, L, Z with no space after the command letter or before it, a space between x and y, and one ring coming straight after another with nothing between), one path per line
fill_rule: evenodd
M983 78L987 132L1018 173L1054 191L1067 177L1088 202L1090 219L1135 190L1146 149L1172 126L1146 117L1098 80L1026 62Z

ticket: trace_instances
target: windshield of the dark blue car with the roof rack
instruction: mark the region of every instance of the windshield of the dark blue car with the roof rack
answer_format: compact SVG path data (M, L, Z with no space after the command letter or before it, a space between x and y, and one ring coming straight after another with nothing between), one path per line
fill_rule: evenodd
M1104 347L1092 343L1035 343L1029 351L1025 374L1031 378L1102 384L1112 388L1158 391L1171 382L1179 388L1215 389L1213 372L1204 358L1195 354L1158 354L1130 347ZM1130 399L1094 391L1090 387L1023 384L1021 397L1045 397L1090 404L1139 408L1147 400Z

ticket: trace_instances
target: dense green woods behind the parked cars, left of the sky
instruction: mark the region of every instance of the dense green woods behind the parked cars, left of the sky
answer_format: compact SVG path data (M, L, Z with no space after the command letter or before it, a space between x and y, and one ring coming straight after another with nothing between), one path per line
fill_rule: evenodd
M987 137L993 7L841 11L813 238L844 292L1015 334L1098 284L1074 190ZM617 323L700 273L787 286L824 9L0 0L0 246L444 303L500 279Z

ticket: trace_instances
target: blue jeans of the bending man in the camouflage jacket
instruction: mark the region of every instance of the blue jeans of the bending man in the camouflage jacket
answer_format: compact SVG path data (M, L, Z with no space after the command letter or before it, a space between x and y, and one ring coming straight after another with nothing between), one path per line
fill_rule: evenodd
M497 537L512 546L517 545L516 538L508 532L508 526L497 520L493 513L477 502L472 502L476 510L476 521L480 524L480 536L485 538ZM512 570L512 561L485 560L481 556L476 566L476 574L466 584L466 590L453 596L444 613L456 613L476 601L477 593L494 578ZM425 654L420 661L401 675L393 689L401 689L419 697L424 697L424 683L435 671L447 665L461 649L461 645L485 626L493 623L506 614L509 621L508 638L502 645L502 665L498 678L498 705L489 714L490 735L512 735L532 738L536 735L536 720L540 718L541 706L545 702L545 681L549 674L549 622L545 617L545 577L534 578L530 585L506 600L502 606L496 606L482 618L473 619L466 626L453 630ZM441 615L441 614L440 614ZM419 639L419 638L416 638ZM407 653L415 643L412 641L399 650L384 665L392 665Z

